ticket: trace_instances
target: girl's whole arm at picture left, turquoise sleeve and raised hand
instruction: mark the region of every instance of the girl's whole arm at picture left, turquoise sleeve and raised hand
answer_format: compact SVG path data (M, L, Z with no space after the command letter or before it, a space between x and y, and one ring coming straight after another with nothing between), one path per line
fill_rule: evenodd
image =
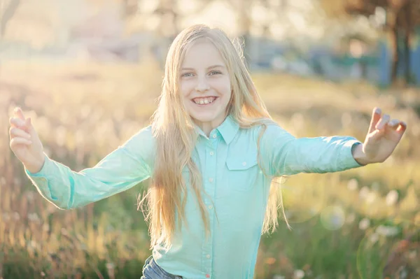
M151 177L155 150L151 126L141 129L96 166L78 172L45 155L36 130L20 108L10 118L9 133L10 148L25 166L27 176L58 208L85 206Z

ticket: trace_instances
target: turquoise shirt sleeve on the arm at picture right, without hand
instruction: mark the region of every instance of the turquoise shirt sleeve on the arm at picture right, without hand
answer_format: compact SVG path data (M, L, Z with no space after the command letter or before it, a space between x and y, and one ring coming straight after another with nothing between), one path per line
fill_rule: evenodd
M360 141L351 136L295 138L279 125L269 124L261 137L260 152L270 176L328 173L362 166L351 152L355 144Z

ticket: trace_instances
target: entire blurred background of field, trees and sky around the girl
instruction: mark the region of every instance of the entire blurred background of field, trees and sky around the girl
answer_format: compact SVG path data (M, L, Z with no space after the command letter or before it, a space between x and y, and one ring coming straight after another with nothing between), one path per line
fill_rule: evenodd
M20 106L45 152L80 171L149 124L165 55L190 24L221 27L274 120L363 141L374 106L407 122L393 155L283 180L286 215L255 278L420 278L420 0L0 0L0 278L140 278L137 198L58 210L9 148Z

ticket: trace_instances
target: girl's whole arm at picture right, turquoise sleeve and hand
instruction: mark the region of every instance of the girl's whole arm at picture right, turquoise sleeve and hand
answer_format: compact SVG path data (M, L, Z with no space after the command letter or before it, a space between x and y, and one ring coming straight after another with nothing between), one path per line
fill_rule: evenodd
M344 171L384 162L406 127L399 120L389 121L389 115L381 117L378 108L364 143L351 136L295 138L281 127L269 125L261 138L262 162L271 176Z

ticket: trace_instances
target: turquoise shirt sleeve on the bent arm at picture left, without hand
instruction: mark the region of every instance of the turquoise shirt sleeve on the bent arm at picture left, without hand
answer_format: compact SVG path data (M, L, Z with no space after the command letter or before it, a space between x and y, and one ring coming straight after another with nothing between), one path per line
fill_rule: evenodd
M85 206L130 189L151 177L151 126L141 129L95 166L72 171L45 155L38 173L25 173L38 192L61 209Z

